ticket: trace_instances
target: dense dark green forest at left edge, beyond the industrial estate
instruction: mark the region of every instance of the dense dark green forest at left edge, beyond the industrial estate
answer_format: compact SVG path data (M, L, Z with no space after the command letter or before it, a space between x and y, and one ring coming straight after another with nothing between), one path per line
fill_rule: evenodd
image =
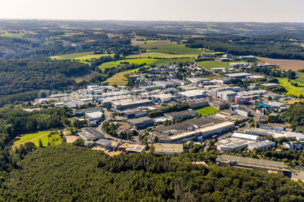
M22 93L36 89L64 90L75 84L77 76L88 68L81 62L0 61L0 95Z

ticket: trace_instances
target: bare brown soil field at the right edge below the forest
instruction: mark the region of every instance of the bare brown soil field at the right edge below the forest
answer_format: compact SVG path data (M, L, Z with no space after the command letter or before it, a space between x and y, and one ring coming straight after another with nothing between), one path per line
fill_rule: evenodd
M289 59L271 59L271 58L260 58L257 59L280 66L284 69L291 69L297 71L299 69L304 69L304 60L289 60Z

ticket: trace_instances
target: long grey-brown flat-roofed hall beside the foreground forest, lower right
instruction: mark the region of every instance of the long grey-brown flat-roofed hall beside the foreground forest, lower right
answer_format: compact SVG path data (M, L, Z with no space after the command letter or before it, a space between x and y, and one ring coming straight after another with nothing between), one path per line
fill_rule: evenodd
M250 170L259 170L268 173L283 173L283 162L261 160L222 154L216 159L216 165L222 167L237 167Z

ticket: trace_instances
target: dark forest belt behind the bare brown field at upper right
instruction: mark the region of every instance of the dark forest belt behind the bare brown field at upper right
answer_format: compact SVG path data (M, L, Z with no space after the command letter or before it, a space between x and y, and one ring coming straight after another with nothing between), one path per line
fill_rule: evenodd
M190 48L206 48L233 55L255 55L274 59L304 60L303 48L280 40L280 35L236 36L213 35L188 40Z

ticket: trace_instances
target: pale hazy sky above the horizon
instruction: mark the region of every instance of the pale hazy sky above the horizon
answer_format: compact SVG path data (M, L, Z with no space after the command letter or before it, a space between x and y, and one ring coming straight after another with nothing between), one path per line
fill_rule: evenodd
M0 18L304 22L304 0L3 0Z

